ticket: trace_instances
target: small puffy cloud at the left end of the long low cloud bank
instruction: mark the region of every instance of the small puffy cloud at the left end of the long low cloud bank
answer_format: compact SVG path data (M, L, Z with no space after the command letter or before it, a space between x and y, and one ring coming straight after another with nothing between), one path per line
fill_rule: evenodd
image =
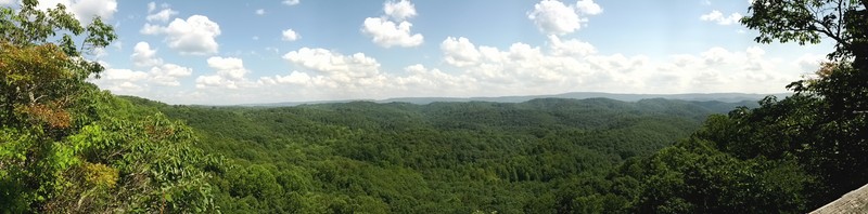
M207 63L208 67L215 69L216 72L209 76L199 76L196 78L197 89L239 89L250 84L244 77L250 70L244 68L244 62L241 58L212 56Z

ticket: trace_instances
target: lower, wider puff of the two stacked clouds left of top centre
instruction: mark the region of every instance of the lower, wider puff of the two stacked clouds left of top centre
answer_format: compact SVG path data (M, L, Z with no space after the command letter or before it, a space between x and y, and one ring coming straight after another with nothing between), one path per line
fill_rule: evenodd
M365 18L362 31L372 37L372 41L383 48L392 46L418 46L424 41L421 34L411 34L409 22L395 24L379 17Z

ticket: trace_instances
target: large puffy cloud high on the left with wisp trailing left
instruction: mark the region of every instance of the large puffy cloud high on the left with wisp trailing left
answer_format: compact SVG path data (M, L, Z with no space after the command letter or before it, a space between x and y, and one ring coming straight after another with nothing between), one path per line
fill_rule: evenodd
M140 32L166 35L168 46L181 54L207 55L219 49L215 39L220 35L220 26L204 15L192 15L187 21L175 18L165 27L145 24Z

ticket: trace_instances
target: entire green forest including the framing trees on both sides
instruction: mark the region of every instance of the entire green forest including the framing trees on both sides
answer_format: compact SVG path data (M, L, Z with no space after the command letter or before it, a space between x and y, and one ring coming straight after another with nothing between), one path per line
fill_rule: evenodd
M793 95L171 106L87 80L117 39L0 9L3 213L804 213L868 183L868 1L756 0L757 42L835 42Z

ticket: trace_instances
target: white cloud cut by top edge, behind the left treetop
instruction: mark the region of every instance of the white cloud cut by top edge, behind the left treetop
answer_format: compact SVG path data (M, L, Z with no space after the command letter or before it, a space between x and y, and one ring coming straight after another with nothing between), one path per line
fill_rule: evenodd
M95 16L100 16L103 21L112 19L117 12L116 0L42 0L36 8L48 10L55 8L59 3L66 5L66 10L85 25L93 21Z

